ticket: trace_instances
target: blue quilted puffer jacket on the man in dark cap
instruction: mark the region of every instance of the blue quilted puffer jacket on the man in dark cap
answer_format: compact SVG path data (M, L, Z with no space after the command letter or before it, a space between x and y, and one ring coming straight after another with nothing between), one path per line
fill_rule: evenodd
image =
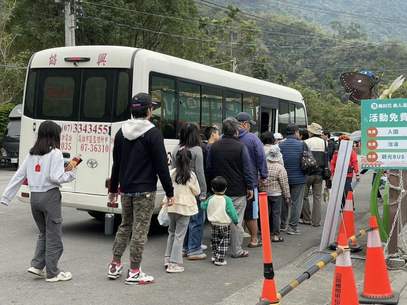
M284 167L288 175L288 184L298 185L305 183L307 177L301 167L302 142L295 135L288 135L284 141L278 143L278 146L283 155Z

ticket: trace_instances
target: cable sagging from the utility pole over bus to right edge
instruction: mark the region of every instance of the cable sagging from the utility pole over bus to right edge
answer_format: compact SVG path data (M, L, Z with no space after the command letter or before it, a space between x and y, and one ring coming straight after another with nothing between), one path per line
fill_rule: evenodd
M86 16L83 14L83 16L76 17L76 19L79 18L86 18L86 19L95 19L99 20L102 22L108 22L111 24L115 24L118 26L125 26L129 28L134 28L134 29L139 29L140 31L146 31L154 34L159 34L159 35L167 35L171 37L177 37L177 38L184 38L188 40L196 40L196 41L202 41L202 42L210 42L210 43L217 43L217 44L227 44L227 45L239 45L239 46L247 46L247 47L265 47L265 48L288 48L288 49L337 49L337 48L356 48L356 47L381 47L381 46L391 46L391 45L405 45L407 43L388 43L388 44L374 44L374 45L351 45L351 46L277 46L277 45L259 45L259 44L244 44L244 43L238 43L238 42L226 42L226 41L220 41L220 40L211 40L211 39L202 39L202 38L197 38L197 37L188 37L188 36L183 36L183 35L175 35L175 34L170 34L170 33L165 33L165 32L158 32L158 31L153 31L152 29L147 29L147 28L142 28L142 27L136 27L136 26L131 26L128 24L123 24L123 23L117 23L114 21L110 20L105 20L99 17L92 17L92 16Z

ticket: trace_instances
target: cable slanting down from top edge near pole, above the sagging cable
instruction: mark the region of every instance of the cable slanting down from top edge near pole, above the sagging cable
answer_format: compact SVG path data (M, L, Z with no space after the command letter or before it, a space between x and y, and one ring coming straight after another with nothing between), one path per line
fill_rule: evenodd
M216 23L212 23L212 22L204 22L204 21L198 21L198 20L190 20L190 19L184 19L184 18L179 18L179 17L172 17L172 16L165 16L165 15L147 13L147 12L140 12L140 11L136 11L136 10L126 9L126 8L120 8L120 7L114 7L114 6L108 6L108 5L99 4L99 3L94 3L94 2L88 2L88 1L83 1L83 3L88 3L88 4L92 4L92 5L96 5L96 6L101 6L101 7L107 7L107 8L116 9L116 10L123 10L123 11L127 11L127 12L132 12L132 13L138 13L138 14L156 16L156 17L161 17L161 18L169 18L169 19L175 19L175 20L181 20L181 21L187 21L187 22L194 22L194 23L198 23L198 24L208 24L208 25L212 25L212 26L220 26L220 27L227 27L227 28L242 29L242 30L244 30L244 31L250 31L250 32L276 34L276 35L284 35L284 36L295 36L295 37L301 37L301 38L328 39L328 38L317 37L317 36L305 36L305 35L297 35L297 34L271 32L271 31L264 31L264 30L261 30L261 29L252 29L252 28L245 28L245 27L239 27L239 26L216 24ZM335 39L335 40L340 41L340 39ZM355 42L372 43L371 41L355 41ZM377 43L377 44L379 44L379 43Z

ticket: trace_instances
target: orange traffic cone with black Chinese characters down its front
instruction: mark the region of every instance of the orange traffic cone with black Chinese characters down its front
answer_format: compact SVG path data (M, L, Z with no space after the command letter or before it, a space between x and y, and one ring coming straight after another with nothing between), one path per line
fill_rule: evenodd
M359 305L351 254L345 234L339 233L338 243L339 247L345 248L345 252L336 259L331 304Z

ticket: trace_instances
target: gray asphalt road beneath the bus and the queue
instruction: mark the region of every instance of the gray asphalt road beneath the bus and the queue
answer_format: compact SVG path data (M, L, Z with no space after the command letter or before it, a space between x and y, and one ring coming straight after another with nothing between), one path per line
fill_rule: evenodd
M0 194L14 172L12 168L0 169ZM367 226L358 224L357 220L369 210L371 175L371 172L364 175L355 192L357 229ZM323 203L323 222L326 207ZM93 219L86 212L67 207L63 207L62 212L64 253L59 267L72 272L73 279L47 283L26 272L38 237L30 206L17 199L13 199L9 207L0 206L0 304L216 304L263 278L262 248L247 248L248 238L244 240L244 249L249 250L248 258L232 259L229 250L226 266L215 266L209 259L184 260L185 272L166 273L163 260L167 232L155 225L150 230L142 261L142 269L155 277L155 283L130 286L125 285L124 277L109 280L107 269L114 236L104 235L104 222ZM279 274L278 269L321 241L323 226L299 225L299 229L300 235L282 233L284 242L272 243L273 262L280 283L285 280L288 284L294 279ZM209 246L209 224L206 224L204 234L204 243ZM209 249L205 252L210 255ZM127 269L128 251L123 262ZM252 304L257 301L253 299Z

